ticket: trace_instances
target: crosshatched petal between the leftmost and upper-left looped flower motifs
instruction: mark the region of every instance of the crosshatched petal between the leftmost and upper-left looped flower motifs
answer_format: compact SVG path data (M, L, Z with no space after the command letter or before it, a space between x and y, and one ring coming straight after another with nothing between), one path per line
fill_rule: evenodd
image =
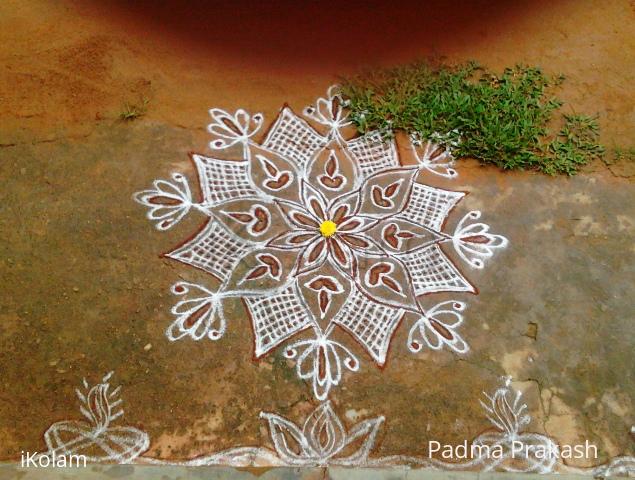
M197 154L192 155L192 160L198 171L206 205L259 195L251 183L248 161L219 160Z

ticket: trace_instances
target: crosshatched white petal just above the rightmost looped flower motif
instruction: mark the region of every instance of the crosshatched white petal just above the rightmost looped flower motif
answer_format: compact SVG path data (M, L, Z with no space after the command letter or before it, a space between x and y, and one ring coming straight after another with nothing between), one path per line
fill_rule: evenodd
M465 192L455 192L414 183L410 200L399 216L440 232L450 210L465 195Z

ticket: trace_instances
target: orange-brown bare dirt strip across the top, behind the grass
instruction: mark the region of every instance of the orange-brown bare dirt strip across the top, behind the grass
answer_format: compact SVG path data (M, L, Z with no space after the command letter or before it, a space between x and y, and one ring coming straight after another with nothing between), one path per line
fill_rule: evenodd
M566 75L567 108L632 146L629 1L2 2L2 144L82 135L151 100L147 119L196 130L207 107L276 112L360 68L428 56Z

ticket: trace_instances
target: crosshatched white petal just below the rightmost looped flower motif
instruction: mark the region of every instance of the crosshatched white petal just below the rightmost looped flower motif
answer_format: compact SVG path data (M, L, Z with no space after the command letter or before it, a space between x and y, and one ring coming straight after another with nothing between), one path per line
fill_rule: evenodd
M477 293L438 244L400 255L412 277L415 295L436 292Z

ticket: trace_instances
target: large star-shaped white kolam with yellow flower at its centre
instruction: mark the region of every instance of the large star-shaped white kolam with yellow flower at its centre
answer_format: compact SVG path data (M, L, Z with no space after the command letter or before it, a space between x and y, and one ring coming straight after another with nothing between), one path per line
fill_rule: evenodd
M219 340L232 328L224 301L241 298L256 358L302 332L288 358L320 401L346 372L360 369L359 353L331 338L337 328L379 366L401 323L410 323L413 352L467 352L459 332L463 314L456 322L444 313L444 323L437 317L447 302L424 295L476 293L446 252L454 249L464 265L482 268L507 239L474 223L480 212L465 215L454 232L444 230L465 192L419 178L456 177L449 147L413 137L409 147L417 163L402 165L392 135L350 133L336 87L303 114L285 106L265 132L262 114L212 109L210 147L240 147L232 151L242 158L192 155L200 202L183 173L135 195L159 230L192 211L207 217L198 233L166 256L212 274L220 285L182 282L190 293L207 293L174 306L168 338ZM322 231L325 225L331 233Z

